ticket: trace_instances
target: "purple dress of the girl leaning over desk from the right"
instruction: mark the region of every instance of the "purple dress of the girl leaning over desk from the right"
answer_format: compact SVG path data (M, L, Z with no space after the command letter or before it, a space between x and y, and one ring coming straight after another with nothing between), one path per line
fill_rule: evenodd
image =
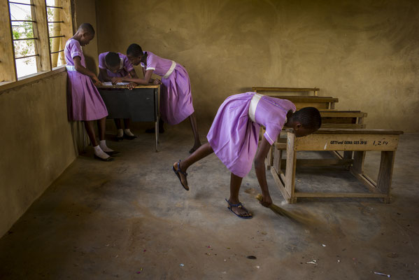
M190 80L185 67L169 59L158 57L152 52L147 53L145 70L153 70L162 76L160 85L160 114L165 123L177 125L194 113Z

